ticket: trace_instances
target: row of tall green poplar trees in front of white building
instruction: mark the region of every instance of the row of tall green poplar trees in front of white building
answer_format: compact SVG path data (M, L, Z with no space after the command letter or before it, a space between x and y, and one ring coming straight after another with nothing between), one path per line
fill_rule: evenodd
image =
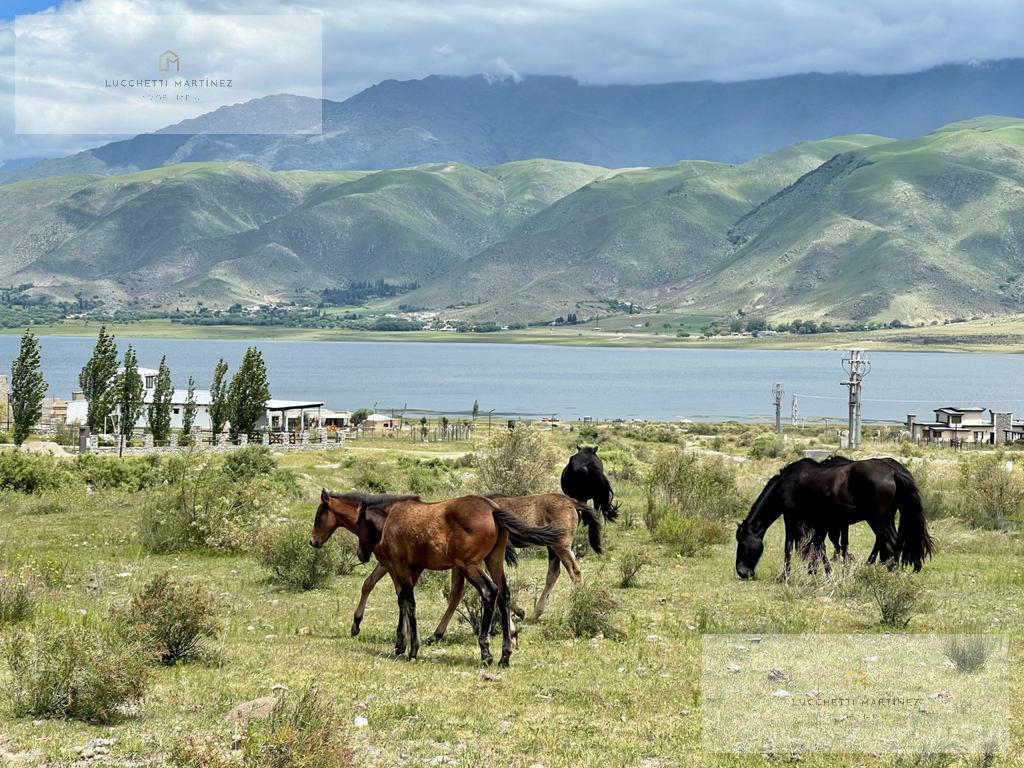
M238 439L241 434L255 438L256 424L263 416L266 401L270 398L263 355L256 347L249 347L229 382L227 371L227 364L223 358L218 360L210 386L209 414L214 440L224 431L225 425L229 427L228 434L232 440ZM160 358L153 398L146 406L135 350L129 344L119 365L117 343L103 327L99 329L92 356L79 374L78 383L89 403L87 423L90 430L103 431L108 418L117 413L118 433L127 440L145 409L154 442L164 443L170 437L174 385L171 383L171 370L166 355ZM181 414L179 436L182 443L191 439L197 410L196 382L189 376ZM123 442L124 440L119 440L119 443Z

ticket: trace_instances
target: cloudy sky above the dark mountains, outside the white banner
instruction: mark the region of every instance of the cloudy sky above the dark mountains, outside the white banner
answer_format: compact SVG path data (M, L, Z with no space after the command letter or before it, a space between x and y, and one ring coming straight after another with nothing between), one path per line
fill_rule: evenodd
M5 0L0 160L95 141L15 135L13 18L41 13L322 15L323 92L335 99L388 78L430 74L733 81L812 71L902 73L1024 56L1020 0ZM196 24L202 29L202 18ZM244 33L217 39L232 60L253 48ZM99 50L109 41L97 33L86 44ZM62 55L54 47L54 56ZM305 75L290 73L287 62L274 71L280 83L267 83L268 92L304 83Z

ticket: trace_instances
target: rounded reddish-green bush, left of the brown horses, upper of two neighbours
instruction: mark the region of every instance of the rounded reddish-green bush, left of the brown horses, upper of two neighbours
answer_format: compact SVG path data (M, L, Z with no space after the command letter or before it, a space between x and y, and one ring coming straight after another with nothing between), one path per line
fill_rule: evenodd
M209 659L205 644L218 630L210 594L197 585L175 582L167 572L135 591L115 621L126 638L137 641L151 658L167 666Z

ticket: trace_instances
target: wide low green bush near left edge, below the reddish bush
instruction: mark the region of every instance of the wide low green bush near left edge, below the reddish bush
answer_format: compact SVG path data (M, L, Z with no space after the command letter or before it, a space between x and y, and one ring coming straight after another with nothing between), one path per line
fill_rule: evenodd
M49 622L3 641L15 717L109 722L148 683L138 648L100 627Z

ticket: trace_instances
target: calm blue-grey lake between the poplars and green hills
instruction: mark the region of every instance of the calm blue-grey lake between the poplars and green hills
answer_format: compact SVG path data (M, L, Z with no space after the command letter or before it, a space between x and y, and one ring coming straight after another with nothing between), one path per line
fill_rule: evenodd
M69 397L95 340L43 336L49 393ZM699 420L772 416L770 389L783 383L783 416L792 396L800 417L844 418L841 352L751 349L643 349L526 344L427 342L236 341L118 338L139 365L167 355L174 384L188 376L207 388L214 364L231 370L247 346L262 350L274 397L324 400L327 408L469 412L595 419ZM18 338L0 335L0 371L10 372ZM940 352L871 352L863 417L931 418L942 406L983 406L1024 414L1024 356Z

